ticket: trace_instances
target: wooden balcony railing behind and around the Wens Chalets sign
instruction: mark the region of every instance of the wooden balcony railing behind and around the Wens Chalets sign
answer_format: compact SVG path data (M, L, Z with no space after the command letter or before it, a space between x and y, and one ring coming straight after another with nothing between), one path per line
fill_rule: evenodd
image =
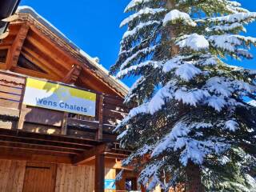
M98 92L94 118L25 106L22 104L25 89L26 77L0 71L0 128L115 141L112 130L128 113L122 98Z

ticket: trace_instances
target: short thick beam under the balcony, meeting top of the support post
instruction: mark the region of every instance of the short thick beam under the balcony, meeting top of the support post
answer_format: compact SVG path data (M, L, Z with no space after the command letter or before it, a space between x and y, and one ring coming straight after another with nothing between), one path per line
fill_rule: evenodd
M94 159L94 156L97 154L103 154L105 150L107 149L106 144L102 144L100 146L94 146L91 150L85 150L82 154L79 154L78 156L73 158L73 164L80 165L85 162L90 162Z

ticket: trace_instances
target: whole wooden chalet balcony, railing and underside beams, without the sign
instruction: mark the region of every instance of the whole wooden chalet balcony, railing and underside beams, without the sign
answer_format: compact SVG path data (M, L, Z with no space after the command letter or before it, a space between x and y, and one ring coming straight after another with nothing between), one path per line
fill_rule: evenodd
M128 113L122 98L86 90L96 94L95 116L72 114L25 105L26 81L26 76L0 71L2 155L6 151L8 155L13 152L12 155L19 158L26 154L34 159L47 154L63 157L54 161L79 163L94 156L95 150L109 158L122 159L129 154L119 148L116 135L112 133L117 122Z

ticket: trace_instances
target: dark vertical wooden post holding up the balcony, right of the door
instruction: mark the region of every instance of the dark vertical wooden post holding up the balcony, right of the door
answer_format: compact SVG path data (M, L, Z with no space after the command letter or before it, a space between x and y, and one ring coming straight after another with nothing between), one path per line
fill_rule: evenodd
M94 192L104 192L105 180L105 157L104 154L96 154Z

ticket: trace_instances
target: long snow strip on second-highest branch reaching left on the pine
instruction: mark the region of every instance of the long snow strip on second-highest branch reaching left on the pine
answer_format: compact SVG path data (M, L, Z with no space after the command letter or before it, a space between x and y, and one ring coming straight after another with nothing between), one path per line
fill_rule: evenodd
M129 22L132 22L134 19L142 18L142 16L145 15L145 14L154 15L154 14L162 13L162 12L165 12L165 11L166 11L166 9L162 9L162 8L151 9L151 8L146 7L145 9L139 10L137 13L130 15L128 18L125 18L121 22L120 27L125 26Z

